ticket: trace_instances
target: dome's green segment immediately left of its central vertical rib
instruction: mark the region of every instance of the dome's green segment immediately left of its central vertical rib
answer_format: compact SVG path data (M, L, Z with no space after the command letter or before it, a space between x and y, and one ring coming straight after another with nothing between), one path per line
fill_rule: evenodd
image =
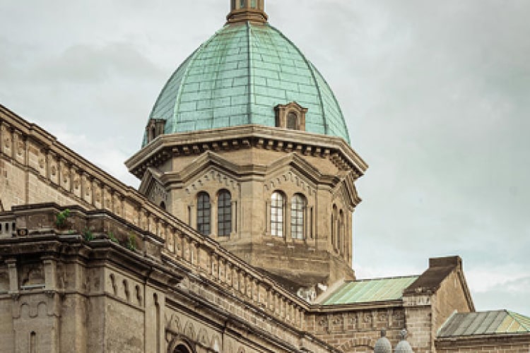
M230 25L206 42L182 82L171 132L249 124L245 24Z

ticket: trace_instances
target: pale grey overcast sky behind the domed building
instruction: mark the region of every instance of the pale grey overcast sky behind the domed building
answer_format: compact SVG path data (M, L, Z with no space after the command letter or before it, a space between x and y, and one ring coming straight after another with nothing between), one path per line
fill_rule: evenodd
M158 93L229 0L0 0L0 103L126 184ZM458 254L478 310L530 316L530 1L266 0L370 164L358 277Z

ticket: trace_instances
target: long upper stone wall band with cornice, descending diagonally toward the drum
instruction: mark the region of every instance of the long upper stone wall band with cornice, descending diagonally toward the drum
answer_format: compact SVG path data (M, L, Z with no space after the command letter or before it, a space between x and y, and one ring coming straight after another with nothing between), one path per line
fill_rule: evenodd
M141 234L146 254L149 246L162 244L160 256L168 261L186 266L230 289L249 306L303 330L309 309L305 301L1 105L0 152L0 173L18 174L21 181L11 186L11 194L4 193L4 210L51 201L63 208L78 205L88 211L107 211Z

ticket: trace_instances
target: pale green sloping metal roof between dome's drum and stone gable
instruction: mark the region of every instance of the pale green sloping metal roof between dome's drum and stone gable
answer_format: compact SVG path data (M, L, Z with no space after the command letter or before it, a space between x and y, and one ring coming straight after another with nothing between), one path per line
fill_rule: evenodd
M324 301L324 305L398 300L403 297L404 289L417 279L418 276L410 276L346 282Z

